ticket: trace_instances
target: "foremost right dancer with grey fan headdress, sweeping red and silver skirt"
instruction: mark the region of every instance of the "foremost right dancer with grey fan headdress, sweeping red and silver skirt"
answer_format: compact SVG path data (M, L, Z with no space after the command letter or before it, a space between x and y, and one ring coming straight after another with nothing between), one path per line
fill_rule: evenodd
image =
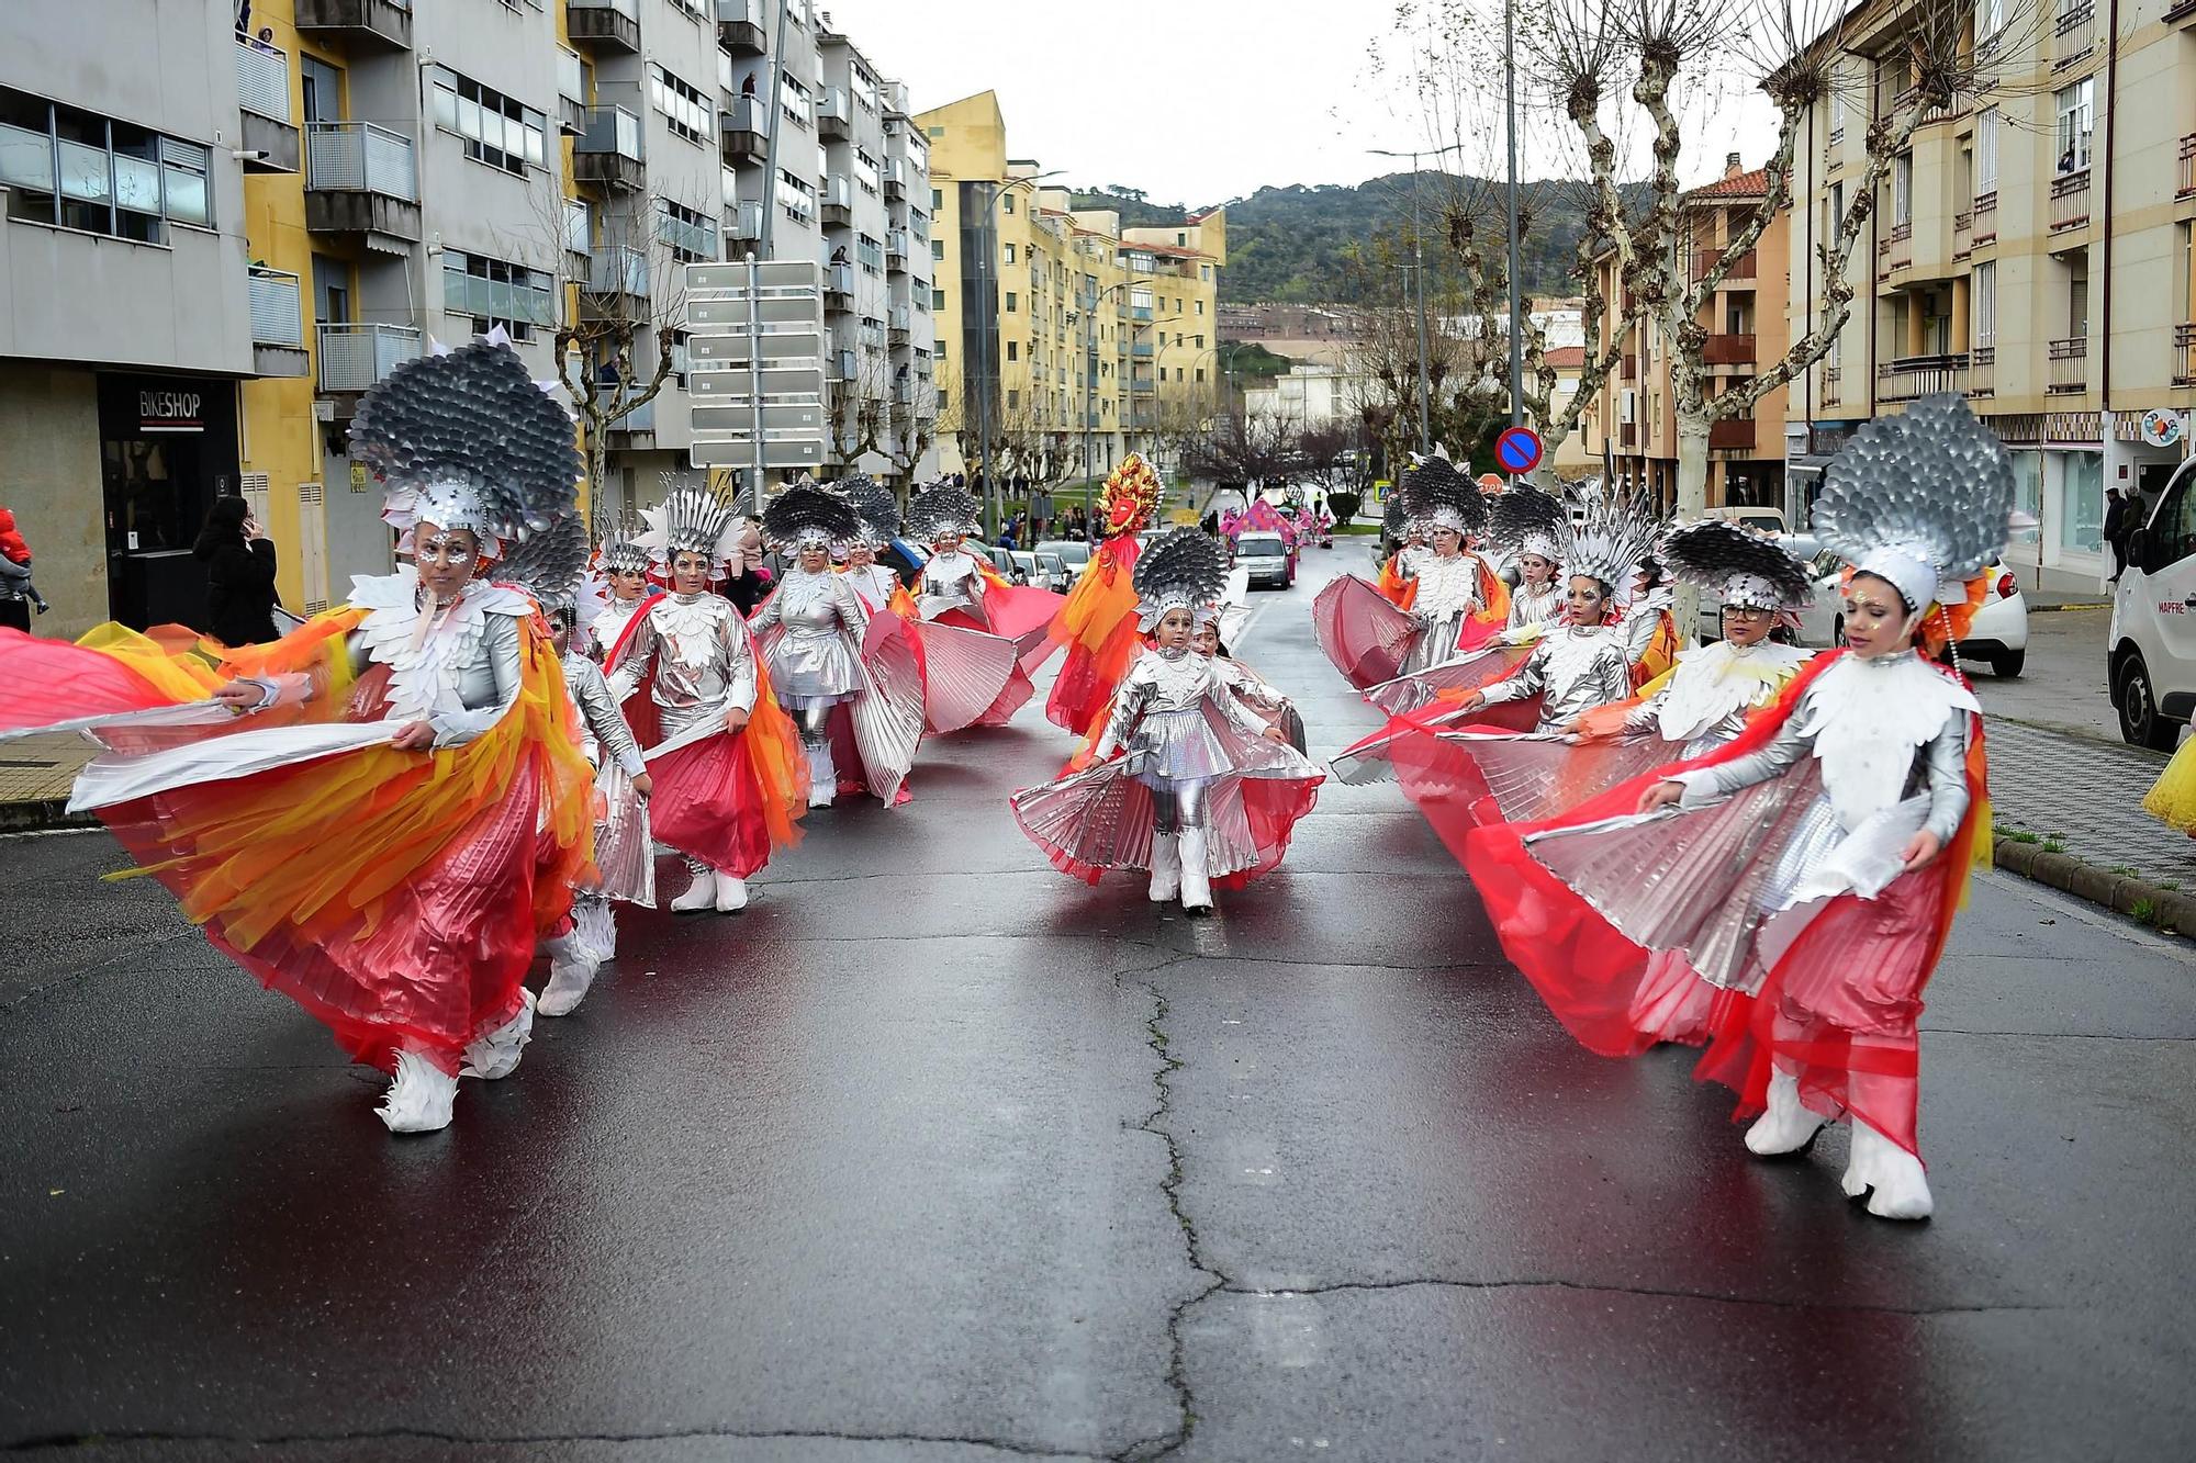
M1917 1019L1990 826L1974 694L1928 650L1981 602L1981 578L1948 591L1998 554L2012 501L2012 459L1961 398L1864 424L1814 521L1853 565L1845 650L1737 740L1561 819L1489 828L1467 857L1511 960L1588 1048L1654 1041L1640 949L1722 986L1695 1074L1761 1114L1746 1147L1801 1153L1849 1118L1845 1193L1884 1219L1932 1210Z

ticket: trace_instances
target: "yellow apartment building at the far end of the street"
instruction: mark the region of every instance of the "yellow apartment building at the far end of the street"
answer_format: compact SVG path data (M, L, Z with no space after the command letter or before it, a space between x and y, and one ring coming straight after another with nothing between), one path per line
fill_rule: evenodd
M1015 455L1105 470L1170 455L1219 398L1221 213L1124 228L1012 158L993 92L914 119L931 147L940 437L973 470L979 417Z

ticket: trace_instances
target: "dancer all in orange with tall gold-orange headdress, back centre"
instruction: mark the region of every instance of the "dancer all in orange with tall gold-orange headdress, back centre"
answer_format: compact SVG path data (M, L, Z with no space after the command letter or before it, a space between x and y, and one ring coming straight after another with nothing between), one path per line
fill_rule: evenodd
M1052 622L1052 639L1067 646L1067 659L1045 699L1045 718L1076 736L1105 714L1113 688L1142 650L1133 582L1142 547L1138 534L1157 512L1159 496L1159 474L1135 453L1107 474L1098 494L1098 549Z

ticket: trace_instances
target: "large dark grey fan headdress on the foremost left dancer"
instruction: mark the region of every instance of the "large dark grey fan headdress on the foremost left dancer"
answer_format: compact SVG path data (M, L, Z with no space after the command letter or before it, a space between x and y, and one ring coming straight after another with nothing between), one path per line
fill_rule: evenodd
M501 556L573 512L580 444L573 417L501 340L419 356L367 391L351 457L382 479L382 518L470 529Z

